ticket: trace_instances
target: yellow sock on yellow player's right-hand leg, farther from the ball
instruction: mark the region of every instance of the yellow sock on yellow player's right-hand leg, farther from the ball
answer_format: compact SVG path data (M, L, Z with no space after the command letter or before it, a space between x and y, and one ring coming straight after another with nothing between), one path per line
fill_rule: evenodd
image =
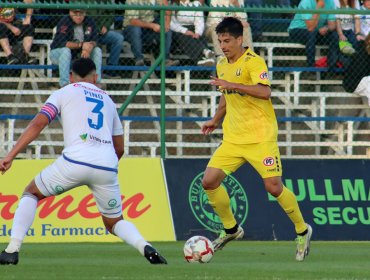
M292 193L286 187L283 187L282 193L276 198L281 208L288 215L290 220L295 226L296 233L302 233L307 229L307 226L303 220L301 210L297 203L297 198L294 193Z

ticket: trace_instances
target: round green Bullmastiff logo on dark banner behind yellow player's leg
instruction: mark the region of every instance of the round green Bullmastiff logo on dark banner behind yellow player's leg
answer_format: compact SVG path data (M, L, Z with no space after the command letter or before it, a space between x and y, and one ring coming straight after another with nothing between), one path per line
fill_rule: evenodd
M202 187L204 172L199 173L191 182L189 188L189 205L195 218L206 229L219 232L224 227L221 219L208 202L208 196ZM232 176L227 176L223 181L223 188L230 196L230 204L236 221L243 225L248 215L248 199L243 186Z

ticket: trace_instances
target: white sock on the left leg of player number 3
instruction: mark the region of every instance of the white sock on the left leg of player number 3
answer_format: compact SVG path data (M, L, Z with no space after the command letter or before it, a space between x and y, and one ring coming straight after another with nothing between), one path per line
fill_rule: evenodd
M26 193L22 196L15 211L10 243L5 252L19 252L23 239L35 218L37 202L38 199L31 194Z

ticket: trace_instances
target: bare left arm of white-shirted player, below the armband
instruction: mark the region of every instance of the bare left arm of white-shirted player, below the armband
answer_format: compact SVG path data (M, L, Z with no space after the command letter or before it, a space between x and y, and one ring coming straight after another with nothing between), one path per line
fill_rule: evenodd
M48 118L43 114L37 114L35 118L29 123L25 131L19 137L17 143L11 151L0 160L0 171L4 174L12 166L13 159L27 147L29 143L35 140L40 132L49 124Z

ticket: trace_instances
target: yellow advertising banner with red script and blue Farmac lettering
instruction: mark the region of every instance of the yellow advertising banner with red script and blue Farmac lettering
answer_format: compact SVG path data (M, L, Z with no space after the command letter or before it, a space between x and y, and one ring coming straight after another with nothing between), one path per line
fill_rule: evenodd
M14 212L26 185L53 160L15 160L0 175L0 243L8 242ZM122 159L119 166L123 216L149 241L175 240L160 159ZM25 242L117 242L104 228L90 190L84 186L38 204Z

